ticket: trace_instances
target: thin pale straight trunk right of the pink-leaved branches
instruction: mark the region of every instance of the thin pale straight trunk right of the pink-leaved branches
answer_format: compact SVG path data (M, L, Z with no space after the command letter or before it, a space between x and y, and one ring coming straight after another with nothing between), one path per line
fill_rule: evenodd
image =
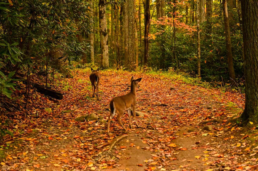
M197 70L198 77L201 77L201 47L200 47L200 0L197 0L196 19L197 19Z

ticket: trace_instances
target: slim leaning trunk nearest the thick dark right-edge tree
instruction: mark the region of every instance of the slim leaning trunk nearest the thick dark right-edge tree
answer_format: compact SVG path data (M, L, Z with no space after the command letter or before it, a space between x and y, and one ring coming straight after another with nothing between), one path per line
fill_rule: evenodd
M230 29L229 29L227 0L222 0L222 5L223 5L223 15L224 15L224 25L225 25L229 77L230 77L231 84L235 85L236 76L235 76L235 71L233 66L233 56L232 56L232 50L231 50L231 38L230 38Z

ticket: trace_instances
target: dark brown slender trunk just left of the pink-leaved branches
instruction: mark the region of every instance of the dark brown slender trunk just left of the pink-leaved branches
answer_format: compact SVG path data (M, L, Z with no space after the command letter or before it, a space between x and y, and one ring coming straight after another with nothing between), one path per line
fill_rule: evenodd
M147 66L148 63L148 34L150 26L150 0L145 0L144 2L144 66Z

